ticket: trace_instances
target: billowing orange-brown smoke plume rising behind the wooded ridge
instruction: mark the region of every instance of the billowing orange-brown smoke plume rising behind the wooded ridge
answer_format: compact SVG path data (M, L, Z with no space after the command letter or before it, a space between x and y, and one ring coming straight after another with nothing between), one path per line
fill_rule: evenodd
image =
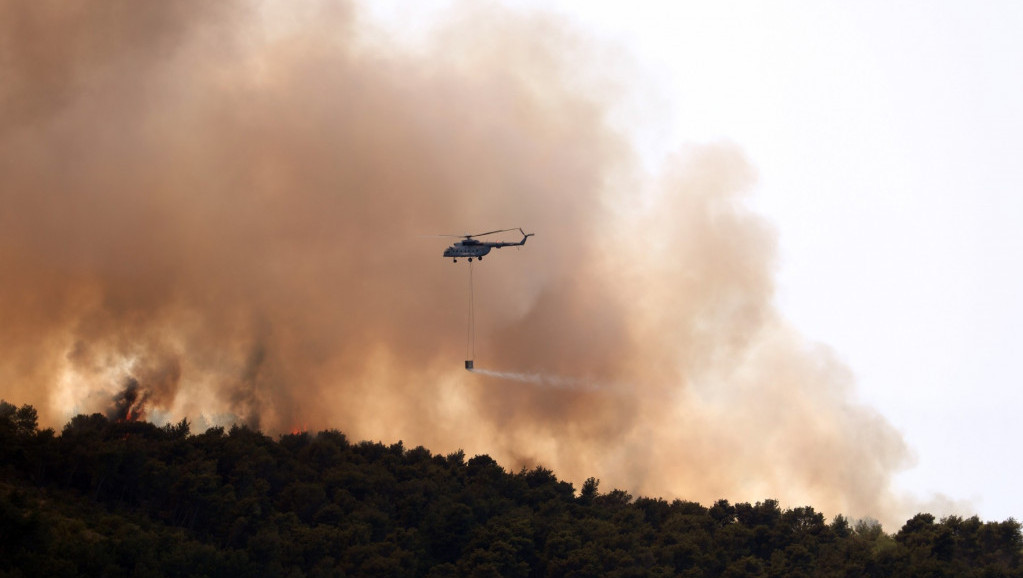
M0 4L0 394L901 515L901 438L774 308L742 153L650 176L598 47L457 6L401 50L345 2ZM518 381L463 370L465 264L424 236L506 227L477 363Z

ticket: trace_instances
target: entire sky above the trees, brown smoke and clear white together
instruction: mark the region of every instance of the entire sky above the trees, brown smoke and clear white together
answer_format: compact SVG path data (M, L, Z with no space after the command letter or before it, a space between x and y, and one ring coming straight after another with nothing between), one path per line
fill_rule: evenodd
M0 396L1019 516L1020 17L0 4Z

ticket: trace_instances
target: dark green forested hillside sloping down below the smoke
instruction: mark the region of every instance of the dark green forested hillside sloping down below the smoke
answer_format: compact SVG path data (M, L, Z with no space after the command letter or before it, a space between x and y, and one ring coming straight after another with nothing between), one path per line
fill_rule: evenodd
M920 514L894 534L774 500L578 492L486 455L192 435L0 402L0 577L1023 576L1015 520Z

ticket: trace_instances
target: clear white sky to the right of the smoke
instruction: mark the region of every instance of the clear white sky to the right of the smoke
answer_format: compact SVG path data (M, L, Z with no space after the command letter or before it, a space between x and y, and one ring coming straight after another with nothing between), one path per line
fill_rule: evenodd
M637 127L652 164L744 149L777 303L916 451L900 487L1023 519L1023 3L503 3L633 55L670 120ZM406 32L450 4L369 2Z

